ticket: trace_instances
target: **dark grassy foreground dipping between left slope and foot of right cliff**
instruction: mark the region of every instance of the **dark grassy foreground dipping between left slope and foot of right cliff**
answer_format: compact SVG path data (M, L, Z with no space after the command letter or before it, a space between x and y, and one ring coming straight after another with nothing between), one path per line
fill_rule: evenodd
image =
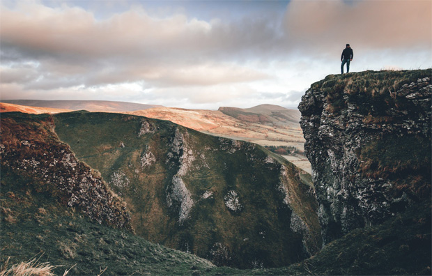
M17 183L21 183L17 185ZM431 275L431 204L412 206L376 227L356 229L311 259L284 268L216 268L192 254L88 220L33 190L10 171L1 179L1 256L62 275Z

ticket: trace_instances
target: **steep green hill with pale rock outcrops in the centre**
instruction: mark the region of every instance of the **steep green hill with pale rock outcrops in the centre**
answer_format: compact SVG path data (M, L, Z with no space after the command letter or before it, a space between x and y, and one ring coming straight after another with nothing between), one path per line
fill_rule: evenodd
M255 144L168 121L58 114L56 133L128 202L154 243L215 264L284 266L321 245L309 174Z

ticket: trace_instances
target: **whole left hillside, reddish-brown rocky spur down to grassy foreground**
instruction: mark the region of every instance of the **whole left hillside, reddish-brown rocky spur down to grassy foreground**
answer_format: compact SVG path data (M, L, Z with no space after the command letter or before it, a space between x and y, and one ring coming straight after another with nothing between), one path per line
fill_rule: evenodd
M125 203L59 141L51 116L2 114L0 126L0 275L31 259L49 262L56 275L190 275L214 267L134 235Z

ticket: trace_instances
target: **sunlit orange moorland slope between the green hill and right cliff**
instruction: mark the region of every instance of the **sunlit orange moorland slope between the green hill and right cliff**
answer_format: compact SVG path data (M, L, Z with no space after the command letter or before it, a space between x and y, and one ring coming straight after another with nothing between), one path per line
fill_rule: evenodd
M259 121L251 123L220 111L172 107L158 107L125 113L168 120L211 135L251 141L261 146L287 146L303 151L304 138L300 128L300 112L298 110L286 109L277 105L259 105L247 110L255 112L254 114L261 112L265 116L268 116L267 114L279 114L277 117L279 120L268 116L269 120L278 123L270 125L268 123L262 124ZM285 120L285 123L280 120ZM285 155L284 158L310 173L311 164L304 156Z

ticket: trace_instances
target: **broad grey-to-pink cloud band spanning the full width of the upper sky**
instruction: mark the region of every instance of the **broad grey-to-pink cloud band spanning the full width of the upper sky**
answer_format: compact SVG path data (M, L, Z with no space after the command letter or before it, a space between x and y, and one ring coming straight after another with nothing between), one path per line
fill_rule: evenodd
M337 47L339 52L348 41L369 49L419 43L430 49L431 5L430 1L291 1L283 22L276 12L268 11L238 22L206 22L182 14L152 17L139 6L96 20L82 8L20 4L13 10L2 9L1 42L29 58L52 56L71 63L117 59L117 66L139 60L164 67L203 60L280 59L302 49L312 56L334 55L331 49Z

